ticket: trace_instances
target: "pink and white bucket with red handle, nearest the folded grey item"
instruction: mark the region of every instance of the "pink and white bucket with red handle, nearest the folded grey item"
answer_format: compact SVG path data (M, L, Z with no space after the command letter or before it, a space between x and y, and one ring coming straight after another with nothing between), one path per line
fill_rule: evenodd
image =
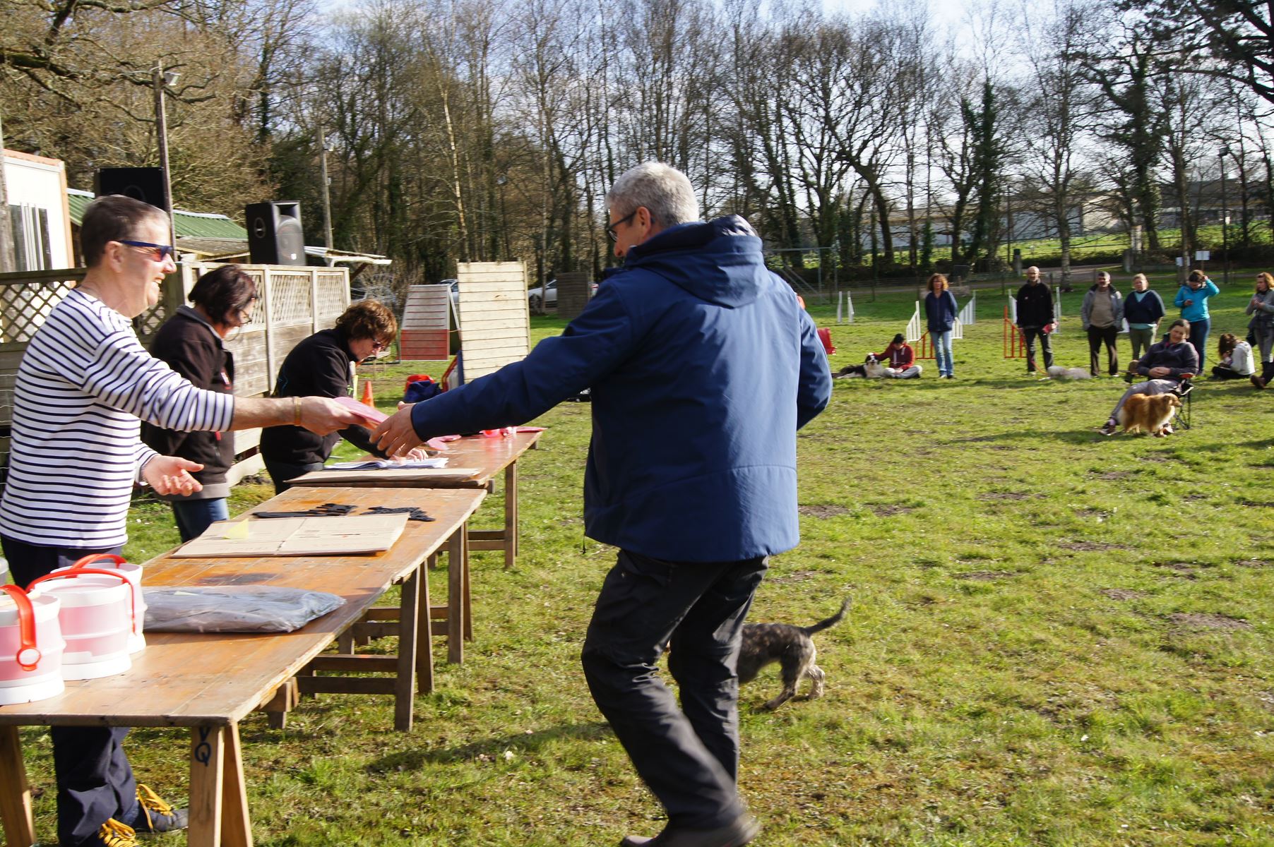
M66 639L62 679L97 679L122 674L132 666L132 583L121 573L68 568L39 577L28 586L62 601L57 623Z

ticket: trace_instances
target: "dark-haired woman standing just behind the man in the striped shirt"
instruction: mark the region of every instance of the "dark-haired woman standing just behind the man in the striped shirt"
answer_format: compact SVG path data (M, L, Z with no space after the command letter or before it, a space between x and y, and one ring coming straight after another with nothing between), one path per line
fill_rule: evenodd
M150 354L196 388L231 394L234 357L222 341L251 320L256 283L238 265L222 265L199 278L190 289L190 302L192 306L180 306L159 327ZM225 474L234 464L234 433L180 432L143 423L141 439L163 456L181 456L204 466L191 474L201 490L159 495L172 506L182 541L229 517Z

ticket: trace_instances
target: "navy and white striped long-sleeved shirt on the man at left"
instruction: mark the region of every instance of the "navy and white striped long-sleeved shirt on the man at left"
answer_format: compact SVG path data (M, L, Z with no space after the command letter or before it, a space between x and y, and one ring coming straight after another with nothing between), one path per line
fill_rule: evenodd
M225 431L233 415L232 395L196 388L147 353L127 318L71 290L18 367L0 534L45 546L124 544L132 484L155 455L140 420Z

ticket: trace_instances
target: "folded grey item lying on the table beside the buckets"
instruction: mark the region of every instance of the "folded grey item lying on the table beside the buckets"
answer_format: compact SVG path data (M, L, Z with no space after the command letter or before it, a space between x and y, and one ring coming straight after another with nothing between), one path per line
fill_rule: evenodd
M147 632L292 632L345 605L326 591L274 586L141 588Z

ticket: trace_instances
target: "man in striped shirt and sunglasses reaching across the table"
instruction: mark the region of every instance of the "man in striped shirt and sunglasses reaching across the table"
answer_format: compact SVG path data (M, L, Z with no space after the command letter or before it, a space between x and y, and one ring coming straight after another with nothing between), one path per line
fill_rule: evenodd
M236 397L196 388L138 341L131 318L159 302L176 271L167 217L118 195L84 213L88 273L45 318L18 368L0 545L14 581L28 585L90 553L117 553L134 483L161 494L200 489L196 462L161 456L140 422L194 431L296 424L326 434L358 422L329 397ZM64 847L130 847L135 830L186 825L136 786L125 727L51 727L57 837Z

